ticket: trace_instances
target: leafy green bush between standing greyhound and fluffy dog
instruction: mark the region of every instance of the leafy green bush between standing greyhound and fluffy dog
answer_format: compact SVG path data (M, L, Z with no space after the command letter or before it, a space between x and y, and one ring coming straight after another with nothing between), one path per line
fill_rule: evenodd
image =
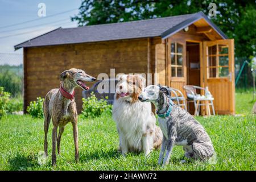
M112 114L112 105L109 105L104 99L98 100L93 92L90 94L90 97L82 98L82 117L96 118L100 115L110 114Z

